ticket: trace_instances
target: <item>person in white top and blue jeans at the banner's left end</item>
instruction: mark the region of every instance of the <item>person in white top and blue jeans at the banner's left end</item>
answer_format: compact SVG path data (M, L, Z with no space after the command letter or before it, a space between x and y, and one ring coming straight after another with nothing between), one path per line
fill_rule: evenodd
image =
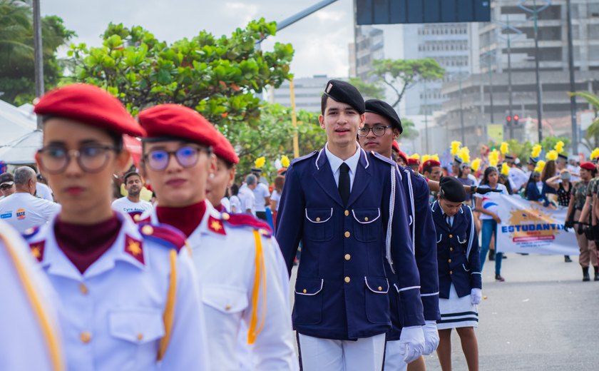
M508 195L508 189L505 185L499 183L499 172L494 166L489 166L485 169L483 175L483 181L478 188L491 188L495 191L487 193L486 195L476 195L476 211L481 213L481 220L483 222L482 228L482 248L481 248L481 271L485 263L486 254L488 253L489 246L491 245L491 237L495 235L497 240L497 225L501 224L501 218L497 215L498 202L501 202L499 195ZM497 243L495 244L497 245ZM501 260L503 260L503 253L497 252L495 254L495 279L503 282L505 278L501 277Z

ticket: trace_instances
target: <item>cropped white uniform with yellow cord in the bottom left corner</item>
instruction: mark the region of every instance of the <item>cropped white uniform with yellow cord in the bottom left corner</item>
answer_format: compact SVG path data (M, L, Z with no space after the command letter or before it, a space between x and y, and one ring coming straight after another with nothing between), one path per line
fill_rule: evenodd
M63 370L56 298L25 241L0 221L0 370Z

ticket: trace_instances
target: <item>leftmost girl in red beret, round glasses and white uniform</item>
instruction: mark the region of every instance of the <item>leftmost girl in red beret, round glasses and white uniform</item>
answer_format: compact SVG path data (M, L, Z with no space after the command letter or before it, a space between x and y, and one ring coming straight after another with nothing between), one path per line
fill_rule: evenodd
M113 173L126 166L123 134L143 135L123 105L83 84L35 107L36 161L62 209L26 236L58 293L68 370L207 370L203 308L184 237L138 227L111 209Z

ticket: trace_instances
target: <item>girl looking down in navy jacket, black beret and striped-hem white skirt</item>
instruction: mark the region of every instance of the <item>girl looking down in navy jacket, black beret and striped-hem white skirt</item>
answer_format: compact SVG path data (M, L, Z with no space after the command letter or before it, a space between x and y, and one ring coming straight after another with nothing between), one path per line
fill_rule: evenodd
M471 209L462 203L464 186L453 177L441 179L439 200L431 209L439 260L439 348L442 370L451 370L451 329L456 328L469 370L478 370L478 327L481 303L481 260Z

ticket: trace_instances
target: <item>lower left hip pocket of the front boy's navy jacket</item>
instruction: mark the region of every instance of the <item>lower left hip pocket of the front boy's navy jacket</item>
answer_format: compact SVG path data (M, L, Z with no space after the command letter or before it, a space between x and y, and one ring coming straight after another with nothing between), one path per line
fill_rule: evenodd
M295 281L295 306L293 321L298 325L316 325L322 320L321 278L297 278Z

